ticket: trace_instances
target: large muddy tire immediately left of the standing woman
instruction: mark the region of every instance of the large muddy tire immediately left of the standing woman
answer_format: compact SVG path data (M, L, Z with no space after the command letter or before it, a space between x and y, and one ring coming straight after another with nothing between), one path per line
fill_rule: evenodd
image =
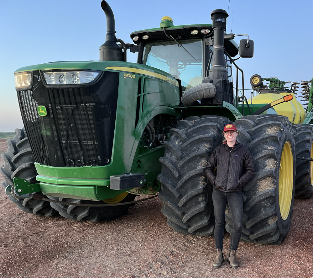
M212 185L206 181L204 168L228 123L221 116L188 117L170 130L170 140L164 142L159 198L167 224L176 232L213 234Z

